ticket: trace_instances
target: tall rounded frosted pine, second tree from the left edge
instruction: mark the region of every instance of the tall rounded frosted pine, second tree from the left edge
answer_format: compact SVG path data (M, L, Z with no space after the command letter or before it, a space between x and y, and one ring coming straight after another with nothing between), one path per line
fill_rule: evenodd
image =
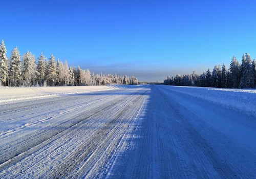
M19 80L22 79L22 69L18 48L15 47L11 53L10 57L10 80L12 86L16 86L19 83Z

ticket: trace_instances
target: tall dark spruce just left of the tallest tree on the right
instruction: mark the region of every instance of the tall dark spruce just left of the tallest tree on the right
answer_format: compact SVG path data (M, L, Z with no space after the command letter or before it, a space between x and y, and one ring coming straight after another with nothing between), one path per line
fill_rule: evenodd
M236 57L233 56L229 67L233 88L238 88L240 83L240 64Z

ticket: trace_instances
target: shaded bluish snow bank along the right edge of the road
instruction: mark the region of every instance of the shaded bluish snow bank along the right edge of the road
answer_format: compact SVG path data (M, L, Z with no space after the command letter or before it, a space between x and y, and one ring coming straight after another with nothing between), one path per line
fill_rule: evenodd
M168 86L171 90L256 117L256 89Z

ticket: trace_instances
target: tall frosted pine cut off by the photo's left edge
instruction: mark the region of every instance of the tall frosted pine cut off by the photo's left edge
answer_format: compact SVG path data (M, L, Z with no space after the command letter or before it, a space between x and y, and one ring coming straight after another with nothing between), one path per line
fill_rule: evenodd
M6 84L9 70L8 70L8 58L6 57L6 47L5 42L2 40L0 45L0 85L3 86L3 83Z

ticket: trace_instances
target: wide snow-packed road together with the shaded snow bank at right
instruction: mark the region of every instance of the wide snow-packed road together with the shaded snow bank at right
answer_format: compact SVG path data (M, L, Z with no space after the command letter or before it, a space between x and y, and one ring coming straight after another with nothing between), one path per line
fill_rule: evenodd
M219 93L142 85L2 102L0 178L256 178L256 94L210 100ZM242 98L252 110L233 105Z

